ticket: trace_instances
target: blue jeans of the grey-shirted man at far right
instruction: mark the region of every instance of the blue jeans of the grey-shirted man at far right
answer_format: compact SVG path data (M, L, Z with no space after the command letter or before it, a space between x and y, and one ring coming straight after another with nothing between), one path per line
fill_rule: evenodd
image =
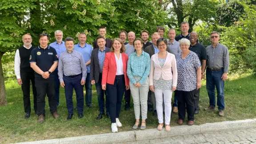
M206 89L208 92L210 105L215 108L216 98L215 98L215 87L217 90L217 105L219 110L224 110L224 81L221 79L224 70L220 69L218 71L211 71L206 69Z

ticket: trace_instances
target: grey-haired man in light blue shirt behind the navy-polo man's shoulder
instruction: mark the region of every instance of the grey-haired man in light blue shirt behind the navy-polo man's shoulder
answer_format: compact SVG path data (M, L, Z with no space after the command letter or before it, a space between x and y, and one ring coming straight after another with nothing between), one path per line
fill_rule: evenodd
M49 44L50 47L55 48L57 55L60 56L62 52L66 51L65 42L62 41L63 32L56 30L54 32L56 41L52 44ZM60 80L58 76L58 67L55 69L55 99L57 107L60 105Z

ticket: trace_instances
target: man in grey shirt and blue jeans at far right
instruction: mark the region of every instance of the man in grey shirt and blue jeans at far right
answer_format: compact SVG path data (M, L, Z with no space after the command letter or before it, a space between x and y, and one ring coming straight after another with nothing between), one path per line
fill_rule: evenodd
M210 104L206 111L214 110L216 106L215 87L217 90L217 105L219 116L224 116L224 80L227 79L229 56L228 48L219 43L220 34L211 33L212 45L206 48L206 89Z

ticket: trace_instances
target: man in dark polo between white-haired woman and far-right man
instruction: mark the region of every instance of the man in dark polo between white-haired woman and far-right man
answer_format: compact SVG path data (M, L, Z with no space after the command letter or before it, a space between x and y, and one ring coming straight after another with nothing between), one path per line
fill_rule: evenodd
M204 70L206 67L206 50L202 44L197 43L196 41L198 40L198 34L196 32L191 32L189 36L190 40L190 46L189 50L192 52L195 52L200 60L201 63L201 70L202 70L202 76L201 79L204 79ZM200 96L200 88L196 89L195 94L194 94L194 100L195 100L195 114L198 114L200 111L199 107L199 96Z

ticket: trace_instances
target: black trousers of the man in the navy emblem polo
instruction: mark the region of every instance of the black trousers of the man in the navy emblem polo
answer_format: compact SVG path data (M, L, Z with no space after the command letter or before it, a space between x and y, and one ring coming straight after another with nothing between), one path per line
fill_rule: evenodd
M37 92L37 115L45 116L45 96L48 96L50 112L57 111L55 100L55 80L35 79L36 92Z

